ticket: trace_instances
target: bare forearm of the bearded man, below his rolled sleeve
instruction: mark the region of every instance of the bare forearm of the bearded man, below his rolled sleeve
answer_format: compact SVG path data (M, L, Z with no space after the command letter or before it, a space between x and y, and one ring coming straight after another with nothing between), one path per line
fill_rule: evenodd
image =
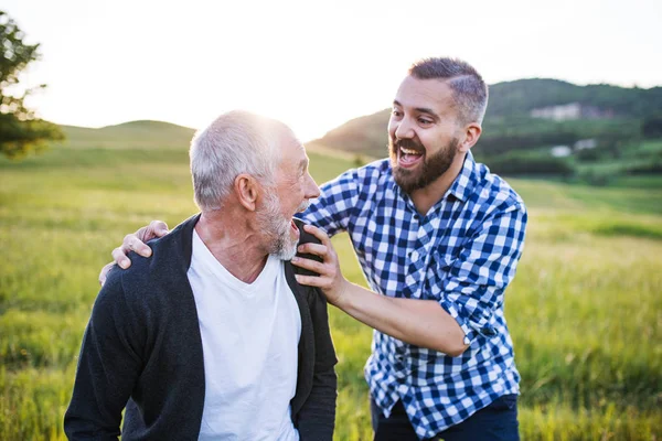
M395 299L346 282L334 305L360 322L403 342L458 356L465 332L434 300Z

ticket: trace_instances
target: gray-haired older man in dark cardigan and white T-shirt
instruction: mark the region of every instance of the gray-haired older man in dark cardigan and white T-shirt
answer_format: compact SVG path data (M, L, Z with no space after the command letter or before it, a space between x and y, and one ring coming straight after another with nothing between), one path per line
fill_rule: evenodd
M292 216L319 195L303 146L233 111L195 136L191 172L201 214L98 294L66 434L117 439L126 407L127 440L331 440L327 303L287 261Z

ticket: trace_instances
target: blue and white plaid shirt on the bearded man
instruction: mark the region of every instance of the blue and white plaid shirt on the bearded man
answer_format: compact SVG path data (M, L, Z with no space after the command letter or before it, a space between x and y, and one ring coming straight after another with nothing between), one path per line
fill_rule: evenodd
M519 392L503 292L522 255L526 209L505 181L469 153L421 216L381 160L322 185L303 217L329 235L349 233L374 291L435 300L465 331L469 347L458 357L374 332L365 378L386 416L401 400L418 437L431 438Z

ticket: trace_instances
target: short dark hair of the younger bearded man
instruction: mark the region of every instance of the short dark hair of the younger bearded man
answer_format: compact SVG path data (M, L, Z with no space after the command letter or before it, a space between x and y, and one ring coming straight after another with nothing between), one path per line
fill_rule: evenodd
M488 85L467 62L449 57L423 58L409 67L408 74L418 79L447 80L461 123L482 123L488 108Z

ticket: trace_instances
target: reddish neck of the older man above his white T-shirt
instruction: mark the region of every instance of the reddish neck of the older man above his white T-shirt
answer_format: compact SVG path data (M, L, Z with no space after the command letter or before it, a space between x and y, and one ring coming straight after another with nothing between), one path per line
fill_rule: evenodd
M252 283L265 268L269 255L260 244L258 230L245 213L223 212L203 212L195 232L231 275Z

